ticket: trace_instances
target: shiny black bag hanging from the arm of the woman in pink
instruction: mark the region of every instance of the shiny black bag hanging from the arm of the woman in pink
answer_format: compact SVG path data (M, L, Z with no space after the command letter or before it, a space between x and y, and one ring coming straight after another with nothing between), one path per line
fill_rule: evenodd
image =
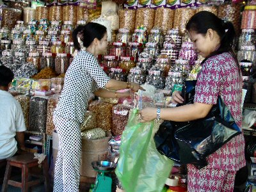
M182 89L185 104L193 103L196 81L186 81ZM207 165L206 157L241 134L220 97L209 114L190 122L164 121L154 136L157 150L179 164Z

